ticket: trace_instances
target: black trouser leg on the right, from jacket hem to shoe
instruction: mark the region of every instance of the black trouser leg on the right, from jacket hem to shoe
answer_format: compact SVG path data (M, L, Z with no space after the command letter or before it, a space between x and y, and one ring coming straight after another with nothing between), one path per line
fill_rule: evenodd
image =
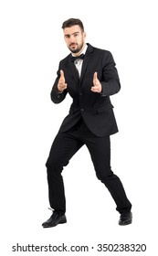
M93 137L86 143L97 177L109 189L117 210L122 214L129 213L132 204L126 197L121 180L111 171L111 142L110 137Z

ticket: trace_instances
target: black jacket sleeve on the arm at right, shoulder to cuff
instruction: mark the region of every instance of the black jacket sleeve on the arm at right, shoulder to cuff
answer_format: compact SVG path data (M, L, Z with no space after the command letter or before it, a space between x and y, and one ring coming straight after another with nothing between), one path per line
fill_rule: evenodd
M115 62L111 52L105 52L102 60L102 75L103 80L100 81L102 85L101 96L111 96L121 90L120 79L118 71L115 68Z

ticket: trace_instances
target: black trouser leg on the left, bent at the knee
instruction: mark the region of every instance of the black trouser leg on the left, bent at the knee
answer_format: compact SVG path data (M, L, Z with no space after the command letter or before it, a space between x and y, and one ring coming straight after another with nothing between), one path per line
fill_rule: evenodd
M50 207L59 215L65 214L66 199L61 172L69 159L83 144L68 133L58 133L47 159L47 183Z

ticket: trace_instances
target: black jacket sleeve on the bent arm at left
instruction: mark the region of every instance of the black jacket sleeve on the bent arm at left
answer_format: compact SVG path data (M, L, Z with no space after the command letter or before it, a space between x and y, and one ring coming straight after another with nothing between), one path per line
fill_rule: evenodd
M67 89L62 92L58 91L58 80L59 80L59 76L60 76L59 70L60 70L60 68L58 69L58 72L57 72L58 77L55 80L55 83L54 83L53 88L50 93L51 100L54 103L60 103L61 101L63 101L68 93Z

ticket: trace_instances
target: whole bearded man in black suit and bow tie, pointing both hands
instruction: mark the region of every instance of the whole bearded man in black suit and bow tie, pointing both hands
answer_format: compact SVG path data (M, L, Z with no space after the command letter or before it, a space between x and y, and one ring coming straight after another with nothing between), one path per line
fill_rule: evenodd
M53 214L42 226L50 228L67 222L61 173L84 144L96 176L109 189L121 214L119 224L131 224L132 204L121 180L111 171L110 135L117 133L118 127L110 96L121 89L115 62L110 51L86 44L86 33L79 19L68 19L62 28L71 53L59 62L51 100L59 103L69 93L73 101L47 158L48 196Z

